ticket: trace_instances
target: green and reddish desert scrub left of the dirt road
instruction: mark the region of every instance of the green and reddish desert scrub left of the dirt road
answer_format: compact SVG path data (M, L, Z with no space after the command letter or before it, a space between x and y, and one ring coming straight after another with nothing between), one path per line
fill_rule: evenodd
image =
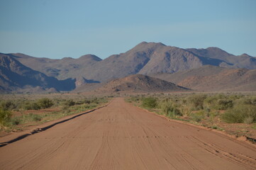
M88 111L108 102L108 97L79 95L50 96L16 95L2 97L0 101L0 131L23 130L50 120Z

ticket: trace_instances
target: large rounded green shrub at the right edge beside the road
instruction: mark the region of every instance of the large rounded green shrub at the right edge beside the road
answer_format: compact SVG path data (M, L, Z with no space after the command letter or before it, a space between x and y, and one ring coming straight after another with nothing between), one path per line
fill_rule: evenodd
M256 106L237 104L229 108L221 118L226 123L256 123Z

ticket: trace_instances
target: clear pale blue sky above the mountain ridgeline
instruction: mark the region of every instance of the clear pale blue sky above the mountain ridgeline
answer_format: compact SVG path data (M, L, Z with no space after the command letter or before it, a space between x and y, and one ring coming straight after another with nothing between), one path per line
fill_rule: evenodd
M255 0L0 0L0 52L102 59L142 41L256 57Z

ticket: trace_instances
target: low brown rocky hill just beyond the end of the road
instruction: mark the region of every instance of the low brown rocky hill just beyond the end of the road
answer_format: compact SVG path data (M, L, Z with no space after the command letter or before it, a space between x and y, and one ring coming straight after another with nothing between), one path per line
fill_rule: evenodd
M133 74L122 79L114 79L104 86L96 89L97 92L167 92L167 91L188 91L182 86L177 86L168 81L148 77L142 74Z

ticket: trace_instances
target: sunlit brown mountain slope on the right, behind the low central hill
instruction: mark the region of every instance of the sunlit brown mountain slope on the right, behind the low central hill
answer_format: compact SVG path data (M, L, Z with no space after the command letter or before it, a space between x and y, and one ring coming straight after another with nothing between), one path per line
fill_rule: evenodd
M151 76L198 91L256 91L256 69L204 66L174 74Z

